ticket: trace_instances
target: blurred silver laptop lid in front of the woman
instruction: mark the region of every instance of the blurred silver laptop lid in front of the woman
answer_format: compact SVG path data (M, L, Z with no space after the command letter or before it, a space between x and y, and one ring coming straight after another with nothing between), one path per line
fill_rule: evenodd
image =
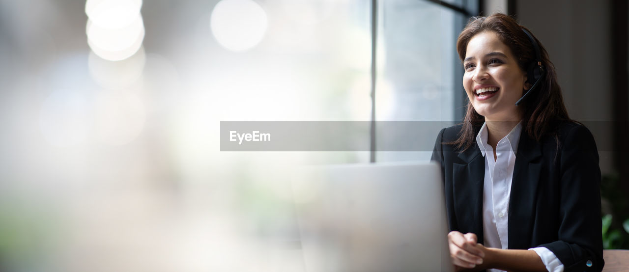
M452 271L437 165L315 166L292 190L306 271Z

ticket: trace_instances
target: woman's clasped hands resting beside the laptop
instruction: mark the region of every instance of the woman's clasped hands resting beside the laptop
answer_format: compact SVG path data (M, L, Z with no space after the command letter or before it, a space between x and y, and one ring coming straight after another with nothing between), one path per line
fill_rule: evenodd
M460 268L475 268L483 263L485 258L484 248L477 244L476 234L462 234L458 231L448 233L448 245L452 264Z

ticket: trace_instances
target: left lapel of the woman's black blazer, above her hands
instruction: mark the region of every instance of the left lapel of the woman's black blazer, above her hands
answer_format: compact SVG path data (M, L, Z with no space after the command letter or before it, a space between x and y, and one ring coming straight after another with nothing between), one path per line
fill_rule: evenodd
M454 163L452 180L454 210L459 231L472 232L482 243L482 186L485 177L485 158L474 144L459 154L460 163Z

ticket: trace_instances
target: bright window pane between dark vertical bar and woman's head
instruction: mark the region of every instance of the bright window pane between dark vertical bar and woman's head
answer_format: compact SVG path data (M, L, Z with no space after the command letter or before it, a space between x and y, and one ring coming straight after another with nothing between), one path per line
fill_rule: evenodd
M377 53L376 161L428 160L438 129L463 116L456 40L477 1L380 1ZM474 2L474 3L472 3ZM384 63L379 63L384 62ZM443 122L446 121L446 122ZM406 136L428 141L399 143ZM409 150L391 151L391 148ZM384 150L384 151L381 151Z

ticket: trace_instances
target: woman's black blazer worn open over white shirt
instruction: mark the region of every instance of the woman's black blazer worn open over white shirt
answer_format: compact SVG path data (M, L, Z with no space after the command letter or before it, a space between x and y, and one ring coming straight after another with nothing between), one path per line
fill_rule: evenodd
M485 158L476 143L462 153L443 144L454 141L461 128L442 129L432 160L441 164L450 231L472 232L482 243ZM508 248L543 246L565 271L601 271L601 170L592 134L580 124L562 122L558 149L554 137L537 142L522 131L511 182Z

